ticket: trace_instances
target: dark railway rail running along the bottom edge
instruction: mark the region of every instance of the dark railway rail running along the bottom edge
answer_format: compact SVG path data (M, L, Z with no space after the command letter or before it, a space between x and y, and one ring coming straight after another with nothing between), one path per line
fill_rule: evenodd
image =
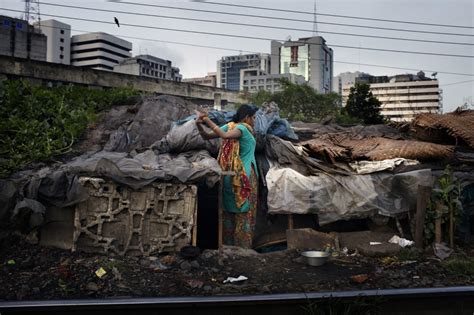
M4 314L474 314L474 286L0 302Z

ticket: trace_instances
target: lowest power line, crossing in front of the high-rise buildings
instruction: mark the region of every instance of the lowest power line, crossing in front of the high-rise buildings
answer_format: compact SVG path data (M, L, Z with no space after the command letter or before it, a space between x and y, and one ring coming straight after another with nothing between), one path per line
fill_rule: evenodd
M62 29L62 27L50 26L50 25L41 25L41 27ZM71 31L82 32L82 33L90 33L91 32L91 31L79 30L79 29L71 29ZM201 45L201 44L191 44L191 43L183 43L183 42L176 42L176 41L166 41L166 40L161 40L161 39L143 38L143 37L136 37L136 36L126 36L126 35L118 35L118 34L110 34L110 35L113 35L113 36L116 36L116 37L119 37L119 38L136 39L136 40L143 40L143 41L150 41L150 42L159 42L159 43L183 45L183 46L190 46L190 47L198 47L198 48L208 48L208 49L225 50L225 51L236 51L236 52L239 52L239 53L240 52L246 52L246 53L252 53L252 54L260 54L261 53L261 52L251 51L251 50L242 50L242 49L217 47L217 46L209 46L209 45ZM277 56L277 57L280 56L278 54L268 54L268 55ZM290 57L290 56L281 55L281 57ZM308 58L308 59L310 61L322 61L323 60L323 59L319 59L319 58ZM370 64L370 63L340 61L340 60L339 61L333 60L333 62L334 63L342 63L342 64L350 64L350 65L363 65L363 66L377 67L377 68L397 69L397 70L410 70L410 71L419 71L420 70L420 69L415 69L415 68L393 67L393 66L376 65L376 64ZM440 71L440 70L424 69L424 71L425 72L438 72L440 74L450 74L450 75L460 75L460 76L474 76L474 74L469 74L469 73L447 72L447 71ZM466 82L468 82L468 81L466 81Z

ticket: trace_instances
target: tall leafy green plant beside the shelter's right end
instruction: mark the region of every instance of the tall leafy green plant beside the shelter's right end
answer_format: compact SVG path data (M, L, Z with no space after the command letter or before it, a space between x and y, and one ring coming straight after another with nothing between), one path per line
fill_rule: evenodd
M433 242L436 221L439 220L439 224L445 227L442 230L443 238L449 238L450 246L453 247L454 230L462 212L461 194L461 182L454 178L451 167L448 165L432 190L431 199L425 212L424 238L426 243Z

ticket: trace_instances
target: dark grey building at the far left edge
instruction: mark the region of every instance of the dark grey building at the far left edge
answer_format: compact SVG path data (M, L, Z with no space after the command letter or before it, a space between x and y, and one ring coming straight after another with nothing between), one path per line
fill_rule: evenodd
M0 55L46 60L46 36L27 21L0 15Z

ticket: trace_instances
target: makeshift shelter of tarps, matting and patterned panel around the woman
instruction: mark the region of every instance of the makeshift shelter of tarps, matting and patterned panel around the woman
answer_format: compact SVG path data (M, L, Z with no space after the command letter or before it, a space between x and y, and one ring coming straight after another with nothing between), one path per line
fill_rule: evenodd
M216 194L221 174L215 159L219 142L201 139L193 121L196 108L180 98L158 96L126 110L111 110L115 123L106 116L97 127L101 134L87 138L88 146L80 144L94 151L0 181L0 214L28 222L30 229L42 227L43 236L61 229L54 221L64 219L74 231L69 243L62 243L66 248L148 255L195 241L197 194ZM120 117L127 119L119 124ZM210 117L223 124L231 113L211 112ZM440 117L415 119L413 126L462 137L467 144L462 155L459 143L413 140L385 125L298 123L293 129L279 117L276 104L266 104L255 125L262 188L259 218L310 214L317 217L317 225L324 225L413 210L418 186L431 185L436 174L432 164L424 163L459 163L463 158L461 164L472 171L472 130L454 123L472 126L472 112L452 114L446 121ZM472 172L463 174L466 185L474 184ZM214 206L200 206L215 211L217 198L203 197ZM95 209L97 205L103 210ZM65 207L76 212L64 216ZM121 225L112 228L117 221ZM257 229L261 236L271 227L268 221L257 222Z

